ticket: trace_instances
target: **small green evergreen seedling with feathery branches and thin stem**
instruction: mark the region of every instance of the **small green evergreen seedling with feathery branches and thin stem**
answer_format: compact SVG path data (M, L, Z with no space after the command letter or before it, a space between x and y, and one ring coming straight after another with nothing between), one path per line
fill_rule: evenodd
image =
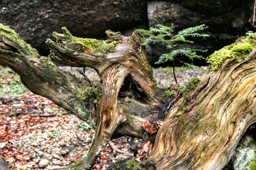
M179 60L182 62L177 56L185 56L189 57L189 59L204 59L202 56L198 56L196 54L197 51L200 52L206 52L207 50L198 50L198 49L191 49L191 48L183 48L183 49L175 49L175 46L177 45L176 42L189 42L189 43L194 43L191 40L186 40L186 37L209 37L210 35L208 34L199 34L199 31L203 31L205 28L208 28L204 24L201 26L195 26L191 28L186 28L183 29L182 31L179 31L178 34L173 35L172 33L174 32L174 25L173 23L171 24L170 27L168 26L163 26L161 24L157 25L158 28L150 28L149 30L144 30L144 29L137 29L135 30L136 32L139 32L143 35L147 35L148 38L145 39L143 44L141 45L147 45L151 42L162 42L163 45L166 46L167 49L170 49L170 53L168 54L163 54L160 56L159 60L155 62L155 64L160 64L163 62L166 62L168 60L173 61L172 67L173 67L173 73L175 77L175 82L177 83L177 79L175 76L175 71L174 71L174 66L175 66L175 59ZM157 33L157 34L156 34ZM184 65L192 67L192 68L198 68L197 66L190 65L188 63L182 62ZM201 69L200 69L201 70Z

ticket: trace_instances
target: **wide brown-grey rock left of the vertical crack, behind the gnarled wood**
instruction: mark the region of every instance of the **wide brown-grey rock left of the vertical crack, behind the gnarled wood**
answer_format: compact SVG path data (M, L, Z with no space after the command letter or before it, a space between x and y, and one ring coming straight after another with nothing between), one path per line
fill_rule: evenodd
M1 0L0 23L13 28L41 55L52 32L67 29L77 37L105 37L147 23L144 0Z

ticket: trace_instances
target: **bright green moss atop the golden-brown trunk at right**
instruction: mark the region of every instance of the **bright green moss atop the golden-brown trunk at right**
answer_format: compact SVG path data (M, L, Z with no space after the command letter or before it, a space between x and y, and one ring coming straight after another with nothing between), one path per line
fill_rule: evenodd
M247 36L244 40L228 45L219 51L215 51L206 59L207 63L209 63L209 70L218 70L221 65L229 59L236 58L238 62L243 61L256 45L255 37L256 33Z

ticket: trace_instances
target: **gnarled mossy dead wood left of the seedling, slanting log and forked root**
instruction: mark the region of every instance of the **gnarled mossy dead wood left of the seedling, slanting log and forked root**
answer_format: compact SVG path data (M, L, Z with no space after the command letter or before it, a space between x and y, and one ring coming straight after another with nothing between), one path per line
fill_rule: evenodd
M106 31L107 44L92 40L93 47L112 42L119 45L112 51L103 49L96 53L63 28L64 34L54 33L56 42L47 40L51 54L42 57L15 31L5 26L1 26L0 31L0 62L17 72L30 91L47 97L96 130L90 150L69 169L93 167L100 151L113 137L141 138L144 133L141 122L159 112L165 90L153 78L145 47L140 45L143 36L134 33L131 37L123 37L119 32ZM50 58L70 66L94 68L102 87L93 87L87 79L55 68ZM121 96L119 91L122 91ZM124 100L127 97L129 101ZM137 108L141 108L140 111ZM142 114L144 118L140 117Z

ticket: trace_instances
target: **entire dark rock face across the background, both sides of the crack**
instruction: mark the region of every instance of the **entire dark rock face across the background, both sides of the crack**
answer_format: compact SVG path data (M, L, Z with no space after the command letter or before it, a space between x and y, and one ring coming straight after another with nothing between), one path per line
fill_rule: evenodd
M2 0L0 23L13 28L45 56L49 54L45 41L53 31L61 32L63 26L76 37L103 40L107 29L130 36L135 28L148 29L158 23L166 26L174 23L176 32L204 23L209 26L206 33L211 37L195 38L194 44L181 44L177 48L208 49L202 54L207 57L233 43L238 35L255 31L248 23L253 18L253 3L254 0ZM146 48L151 63L169 52L161 44Z

